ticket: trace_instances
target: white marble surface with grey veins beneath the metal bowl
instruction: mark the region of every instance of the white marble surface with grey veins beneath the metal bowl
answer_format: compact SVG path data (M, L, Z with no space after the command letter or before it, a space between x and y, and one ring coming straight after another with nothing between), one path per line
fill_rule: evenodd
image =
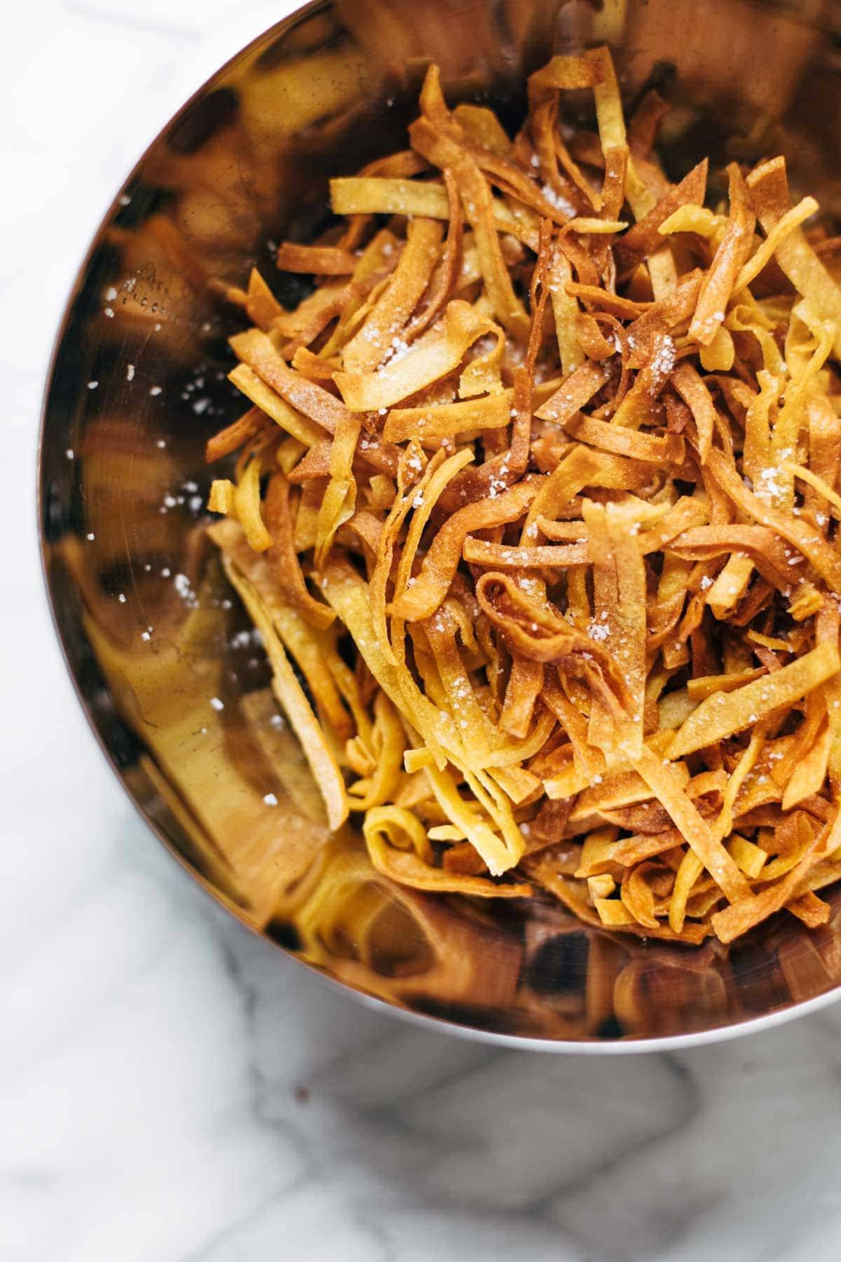
M841 1007L609 1060L405 1026L217 912L76 705L34 538L53 329L146 140L281 9L4 16L0 1258L835 1262Z

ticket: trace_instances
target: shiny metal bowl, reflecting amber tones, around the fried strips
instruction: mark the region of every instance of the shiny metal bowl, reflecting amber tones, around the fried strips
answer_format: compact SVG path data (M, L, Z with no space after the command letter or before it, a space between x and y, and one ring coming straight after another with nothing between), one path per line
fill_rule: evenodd
M833 28L833 18L837 27ZM79 269L44 406L40 522L59 637L151 828L245 924L334 981L460 1032L554 1050L693 1042L841 983L841 896L730 950L666 948L542 902L488 911L390 885L330 837L202 535L204 439L242 410L226 286L315 231L329 174L405 144L426 63L516 124L525 76L609 42L629 100L676 105L666 160L783 151L841 203L841 14L817 0L318 0L238 53L140 160ZM282 286L286 285L286 289ZM277 805L267 804L274 795ZM271 796L270 796L271 801Z

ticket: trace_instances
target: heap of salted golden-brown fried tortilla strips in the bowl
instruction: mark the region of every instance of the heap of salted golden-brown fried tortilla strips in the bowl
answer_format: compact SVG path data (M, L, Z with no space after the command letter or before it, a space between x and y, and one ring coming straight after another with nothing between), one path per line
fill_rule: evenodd
M784 160L673 184L667 110L596 48L511 139L431 66L309 295L229 290L209 531L380 873L726 943L841 878L841 290Z

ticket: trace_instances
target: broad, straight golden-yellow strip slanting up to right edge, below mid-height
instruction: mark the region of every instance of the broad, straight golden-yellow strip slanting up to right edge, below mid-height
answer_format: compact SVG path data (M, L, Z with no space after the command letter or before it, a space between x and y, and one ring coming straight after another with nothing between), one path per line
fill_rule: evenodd
M782 707L789 707L820 688L841 670L838 650L822 644L803 654L773 676L755 679L733 693L716 693L701 702L686 719L668 747L670 758L682 758L695 750L724 741L767 718Z

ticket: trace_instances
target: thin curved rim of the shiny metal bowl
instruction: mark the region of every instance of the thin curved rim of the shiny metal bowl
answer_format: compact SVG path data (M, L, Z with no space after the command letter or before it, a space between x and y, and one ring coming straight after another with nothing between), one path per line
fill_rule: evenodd
M194 867L192 867L185 857L178 851L174 843L166 837L163 828L146 813L144 806L140 804L135 794L129 787L120 767L117 766L116 758L111 750L108 748L105 737L100 729L100 726L95 718L92 708L90 707L87 699L84 698L77 673L73 669L69 656L69 644L62 630L62 621L59 617L57 596L53 591L49 577L49 544L45 538L44 531L44 458L47 449L47 424L48 414L50 410L50 399L54 386L55 369L58 363L58 357L64 345L64 338L68 332L71 323L73 307L76 299L81 293L84 279L87 276L90 262L100 245L102 235L107 228L115 209L120 204L120 197L122 196L126 187L142 169L146 158L153 153L153 150L160 143L163 135L165 135L173 125L180 119L190 106L197 102L203 93L211 88L216 81L224 74L228 67L233 66L242 57L247 56L248 52L255 49L257 45L265 43L269 37L277 37L282 34L286 29L291 28L294 24L300 21L301 18L318 13L322 9L329 8L334 0L308 0L308 3L301 4L294 9L290 9L285 16L280 18L272 25L266 27L262 32L255 35L252 39L247 40L241 48L238 48L231 57L227 58L221 66L218 66L192 93L188 98L175 110L175 112L169 117L169 120L159 129L156 135L149 141L144 148L140 156L132 163L127 174L124 177L120 187L111 198L107 209L102 215L100 223L93 232L88 247L76 269L73 281L71 283L67 298L64 300L62 314L55 328L53 337L52 350L48 358L47 374L44 377L44 385L42 389L42 401L39 409L39 422L38 422L38 443L35 449L35 515L37 515L37 530L38 530L38 551L40 558L40 574L43 581L43 591L47 596L47 606L49 610L49 616L53 623L53 631L55 634L55 640L58 642L58 649L61 656L64 661L67 674L69 675L73 692L78 704L84 714L90 729L105 756L105 761L108 765L111 772L119 781L126 798L134 806L137 815L142 819L146 828L153 833L154 837L163 846L164 851L175 861L177 866L182 870L184 876L189 880L193 886L198 886L204 897L208 900L209 906L218 914L219 911L224 915L229 915L235 921L237 921L243 929L246 929L253 938L262 941L266 946L276 952L285 960L294 964L301 965L310 977L320 979L333 988L334 992L352 997L358 1003L364 1007L377 1011L387 1012L395 1017L401 1018L419 1029L427 1031L439 1031L453 1035L459 1039L465 1039L473 1042L483 1042L490 1046L504 1047L509 1051L540 1051L547 1054L569 1054L569 1055L584 1055L584 1056L615 1056L615 1055L642 1055L646 1053L672 1053L690 1050L692 1047L702 1047L709 1044L726 1042L733 1039L741 1039L751 1034L762 1034L765 1030L775 1029L777 1026L787 1025L798 1017L806 1017L815 1012L820 1012L822 1008L841 1000L841 981L825 991L821 994L813 996L811 1000L793 1000L772 1012L763 1013L762 1016L746 1017L740 1021L728 1022L725 1025L710 1026L706 1030L695 1030L687 1034L678 1035L658 1035L654 1037L625 1037L625 1039L541 1039L528 1035L513 1035L504 1034L496 1030L488 1030L479 1026L472 1026L459 1021L451 1021L446 1017L431 1016L425 1012L417 1012L407 1007L402 1007L400 1003L390 1002L387 1000L380 998L363 989L357 989L347 982L342 982L335 977L332 977L327 970L324 970L318 964L304 957L296 954L293 950L282 946L280 943L271 939L267 934L257 929L238 909L226 900L217 890L213 888L211 882L202 876Z

